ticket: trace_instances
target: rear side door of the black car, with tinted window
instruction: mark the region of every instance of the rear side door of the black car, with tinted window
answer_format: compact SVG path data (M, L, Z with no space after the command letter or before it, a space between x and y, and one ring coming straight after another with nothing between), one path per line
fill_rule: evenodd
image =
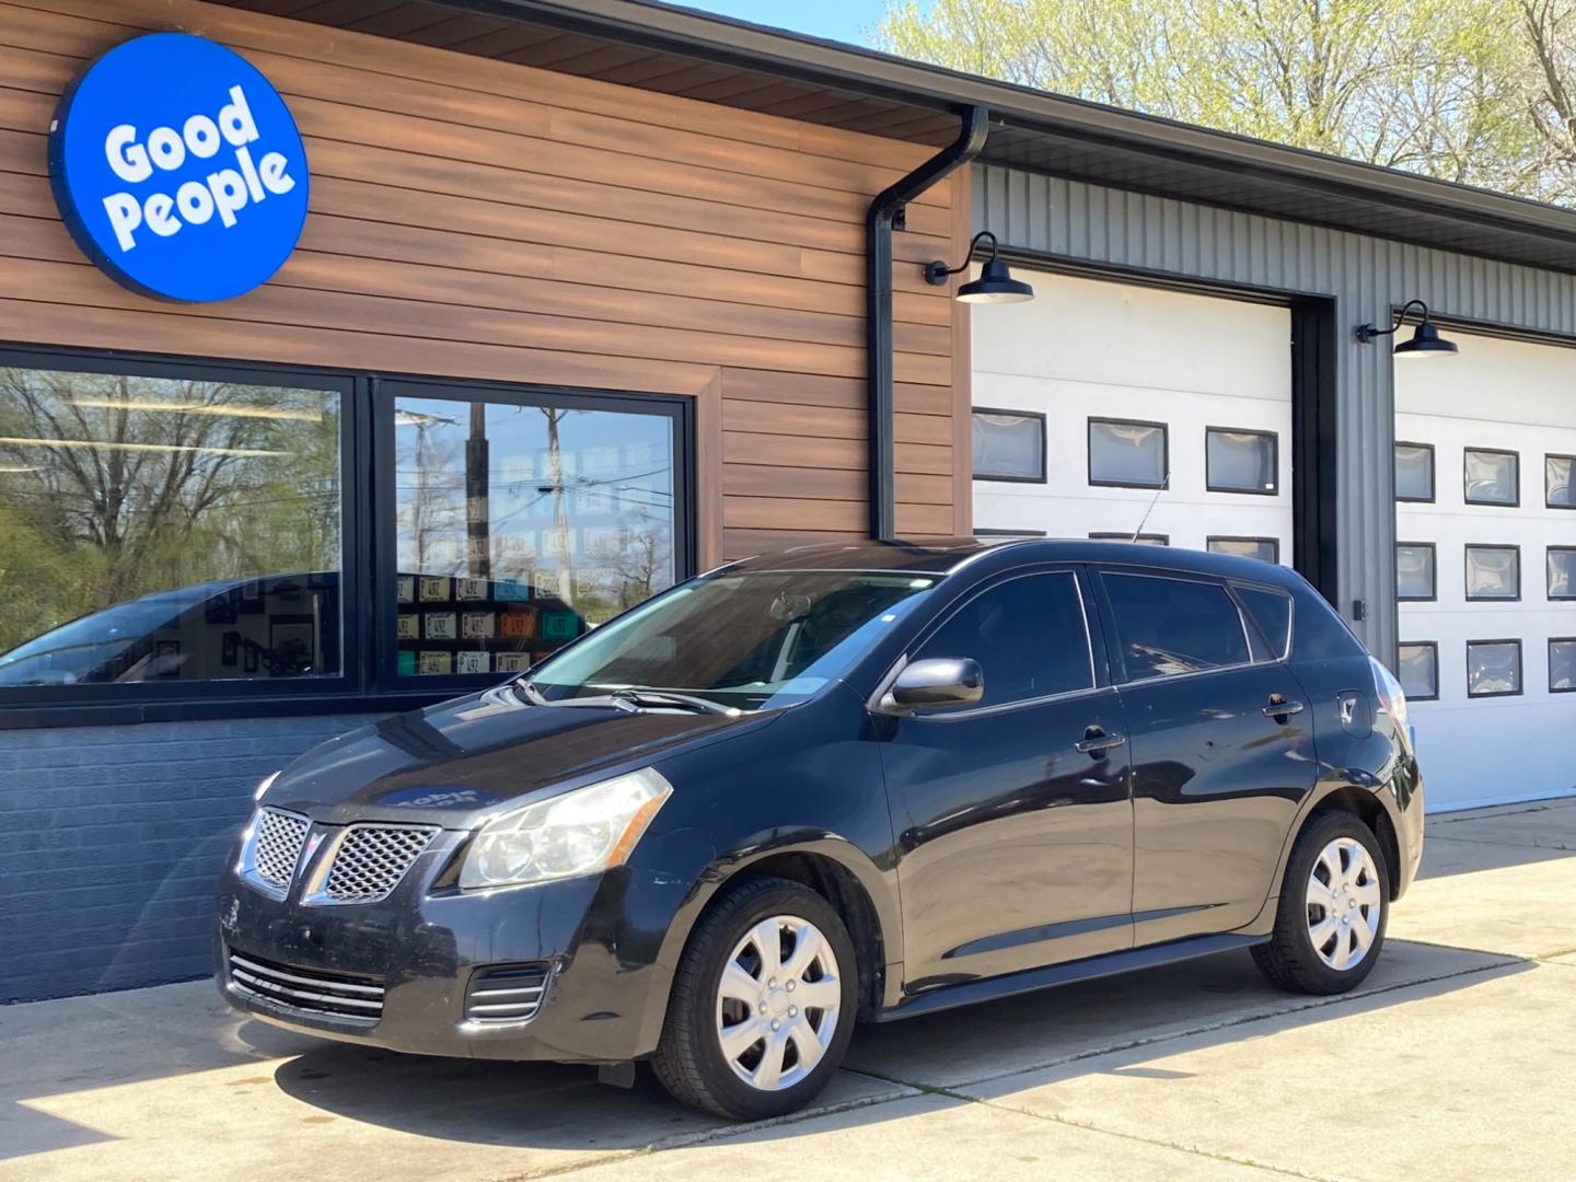
M1318 779L1302 686L1228 583L1098 575L1133 764L1133 939L1251 922Z

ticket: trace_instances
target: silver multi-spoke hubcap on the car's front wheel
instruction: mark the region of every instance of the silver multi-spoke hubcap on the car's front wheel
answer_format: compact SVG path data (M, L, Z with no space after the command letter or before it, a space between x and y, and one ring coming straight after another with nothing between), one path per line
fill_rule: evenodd
M750 1087L793 1087L826 1054L842 1004L837 957L821 930L797 916L763 919L722 966L722 1057Z

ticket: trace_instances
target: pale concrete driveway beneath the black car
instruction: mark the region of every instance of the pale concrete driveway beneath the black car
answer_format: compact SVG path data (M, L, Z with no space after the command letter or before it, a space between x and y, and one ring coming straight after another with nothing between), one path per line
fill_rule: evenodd
M1247 955L865 1028L727 1127L566 1067L414 1059L210 982L0 1009L0 1179L1576 1179L1576 801L1429 824L1365 987Z

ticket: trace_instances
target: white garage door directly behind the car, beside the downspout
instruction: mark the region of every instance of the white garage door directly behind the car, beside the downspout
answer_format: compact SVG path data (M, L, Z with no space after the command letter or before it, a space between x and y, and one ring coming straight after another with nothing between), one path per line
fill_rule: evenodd
M1291 314L1023 279L1031 303L972 317L976 531L1132 537L1149 512L1144 541L1289 564Z

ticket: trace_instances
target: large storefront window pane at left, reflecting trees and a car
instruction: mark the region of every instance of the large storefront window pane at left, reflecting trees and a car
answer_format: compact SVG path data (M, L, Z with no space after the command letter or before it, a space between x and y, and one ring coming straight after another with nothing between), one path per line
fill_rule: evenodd
M0 366L0 687L336 676L339 580L339 391Z

